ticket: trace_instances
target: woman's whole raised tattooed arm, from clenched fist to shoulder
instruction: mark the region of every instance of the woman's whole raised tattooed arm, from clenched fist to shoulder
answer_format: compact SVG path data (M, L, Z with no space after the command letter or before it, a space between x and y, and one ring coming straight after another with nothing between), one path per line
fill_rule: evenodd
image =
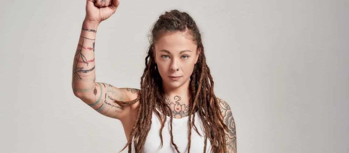
M97 112L122 120L125 112L134 106L120 106L114 100L131 101L138 89L119 89L110 84L96 82L95 39L99 23L115 13L118 0L87 0L86 16L82 24L79 43L74 55L72 88L74 95ZM126 115L127 116L127 115Z

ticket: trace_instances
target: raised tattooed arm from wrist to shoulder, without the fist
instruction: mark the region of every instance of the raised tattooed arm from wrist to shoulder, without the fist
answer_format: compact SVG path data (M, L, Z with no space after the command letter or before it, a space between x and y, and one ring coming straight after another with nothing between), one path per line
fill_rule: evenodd
M122 120L125 112L133 107L121 106L114 100L131 101L137 98L138 89L117 88L110 84L96 82L95 75L95 24L84 22L81 29L79 44L73 62L72 88L76 97L97 112Z

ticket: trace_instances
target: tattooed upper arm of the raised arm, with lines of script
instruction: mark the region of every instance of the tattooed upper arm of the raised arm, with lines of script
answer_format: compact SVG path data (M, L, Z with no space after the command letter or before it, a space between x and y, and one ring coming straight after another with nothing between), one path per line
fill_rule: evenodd
M114 100L131 101L138 97L138 93L139 89L117 88L107 83L96 82L91 91L79 98L98 113L121 120L133 110L134 105L119 105Z

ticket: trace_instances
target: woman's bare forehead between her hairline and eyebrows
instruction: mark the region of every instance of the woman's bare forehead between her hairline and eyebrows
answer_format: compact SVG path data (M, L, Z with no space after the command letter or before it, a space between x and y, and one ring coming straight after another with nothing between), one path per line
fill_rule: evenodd
M184 32L166 33L154 44L156 52L165 49L170 52L196 50L196 43Z

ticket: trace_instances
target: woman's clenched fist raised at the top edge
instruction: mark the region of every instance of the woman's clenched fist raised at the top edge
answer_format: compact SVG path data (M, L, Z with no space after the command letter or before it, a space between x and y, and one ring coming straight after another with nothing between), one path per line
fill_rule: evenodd
M99 24L116 12L119 0L87 0L85 21Z

